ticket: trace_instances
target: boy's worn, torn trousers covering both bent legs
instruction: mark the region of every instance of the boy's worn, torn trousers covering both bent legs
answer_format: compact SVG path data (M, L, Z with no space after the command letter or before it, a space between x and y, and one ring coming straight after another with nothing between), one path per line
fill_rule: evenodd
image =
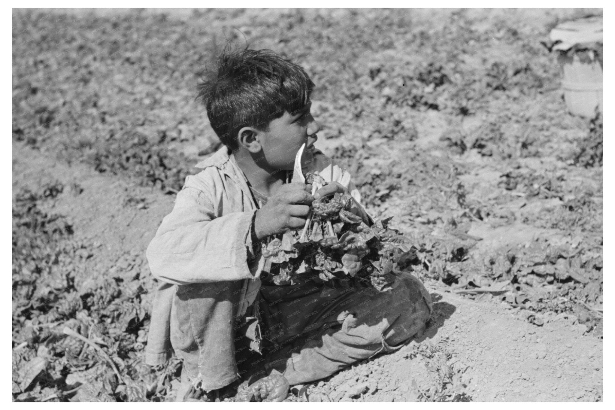
M213 390L271 369L291 385L322 379L422 333L432 309L409 273L389 293L348 288L322 298L322 285L310 281L261 286L247 316L237 317L241 285L178 286L171 342L186 382Z

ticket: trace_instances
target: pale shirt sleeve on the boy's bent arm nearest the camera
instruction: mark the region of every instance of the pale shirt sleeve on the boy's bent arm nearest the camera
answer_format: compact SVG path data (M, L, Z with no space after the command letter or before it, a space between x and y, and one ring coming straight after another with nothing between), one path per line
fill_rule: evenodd
M253 243L255 213L216 218L204 192L184 187L146 251L152 275L177 285L258 279L264 260Z

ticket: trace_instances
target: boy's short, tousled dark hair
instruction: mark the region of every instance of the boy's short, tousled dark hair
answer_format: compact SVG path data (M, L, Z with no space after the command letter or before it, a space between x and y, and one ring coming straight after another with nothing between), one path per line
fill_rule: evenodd
M271 50L246 48L224 49L216 68L202 73L197 87L197 100L205 105L213 130L234 150L242 127L268 131L271 120L308 103L314 83L301 66Z

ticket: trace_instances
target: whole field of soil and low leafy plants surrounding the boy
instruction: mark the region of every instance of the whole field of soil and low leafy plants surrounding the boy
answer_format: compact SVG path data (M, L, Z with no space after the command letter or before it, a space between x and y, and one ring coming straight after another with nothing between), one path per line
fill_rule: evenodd
M422 339L287 400L601 401L603 122L541 44L597 13L14 11L12 400L174 398L180 363L142 361L145 248L218 147L195 73L245 36L306 68L317 147L435 302Z

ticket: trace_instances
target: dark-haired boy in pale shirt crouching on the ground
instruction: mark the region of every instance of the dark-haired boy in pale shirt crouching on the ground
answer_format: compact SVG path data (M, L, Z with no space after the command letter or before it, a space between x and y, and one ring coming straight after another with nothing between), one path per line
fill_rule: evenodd
M338 290L322 283L276 285L261 241L306 222L312 200L343 192L360 201L350 175L314 147L314 84L270 50L224 52L199 84L223 147L186 178L173 211L148 246L154 298L147 357L164 363L170 345L183 360L177 400L189 388L215 390L248 376L281 373L290 385L330 376L355 361L394 350L424 331L431 299L410 274L389 293ZM290 183L295 156L325 181Z

